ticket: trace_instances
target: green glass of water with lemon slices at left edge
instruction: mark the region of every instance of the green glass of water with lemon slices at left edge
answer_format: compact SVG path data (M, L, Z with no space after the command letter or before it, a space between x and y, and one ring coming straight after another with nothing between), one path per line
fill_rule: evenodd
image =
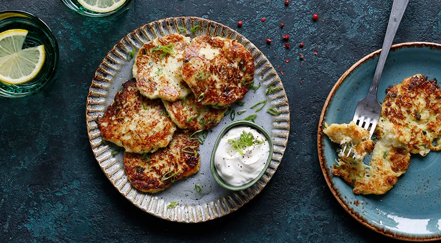
M0 47L2 45L5 48L10 47L11 45L8 43L11 43L11 40L19 40L18 42L14 41L16 44L14 50L11 51L7 48L7 51L0 53L2 68L7 66L8 70L19 70L15 72L18 74L6 77L8 79L3 78L2 80L0 78L0 97L20 98L28 96L40 91L52 82L58 68L58 43L51 29L41 19L18 10L0 11L0 35L3 39L3 41L0 41ZM20 47L21 43L22 46ZM39 49L39 51L36 51L36 49ZM24 53L27 54L20 53L22 50L25 50ZM5 65L5 60L11 64ZM20 70L26 68L27 70L33 70L27 76L23 74L23 71L20 72ZM11 72L9 71L9 73ZM16 83L9 81L20 80L14 79L17 76L20 77L20 74L27 77L27 79L21 79Z

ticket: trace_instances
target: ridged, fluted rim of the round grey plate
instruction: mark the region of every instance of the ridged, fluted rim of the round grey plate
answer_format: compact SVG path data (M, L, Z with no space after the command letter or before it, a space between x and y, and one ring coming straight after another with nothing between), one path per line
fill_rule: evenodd
M276 121L283 121L283 122L286 123L285 127L283 128L283 130L286 130L286 132L280 132L280 131L277 132L276 131L276 132L272 132L271 133L271 135L273 137L282 138L283 139L282 141L278 141L277 143L276 142L274 143L274 150L277 151L278 154L276 155L275 153L273 153L272 162L275 161L275 164L273 165L273 168L271 168L271 166L270 166L270 168L273 171L270 171L270 168L268 168L267 171L265 172L264 176L257 183L255 183L252 187L250 187L250 188L248 188L247 190L244 190L244 191L234 192L234 193L238 193L238 194L239 194L239 192L243 192L242 194L246 194L247 196L249 194L248 198L246 198L244 201L241 200L241 204L236 205L236 203L234 201L234 199L236 199L236 198L234 198L234 196L236 194L231 194L228 197L223 197L222 198L223 200L222 199L215 199L215 200L210 201L209 203L206 204L206 207L208 207L208 209L207 209L207 211L203 211L203 212L205 214L207 214L207 215L201 216L201 217L200 217L200 215L198 215L198 212L196 210L196 207L200 208L199 211L203 210L202 206L200 204L199 205L196 204L196 205L181 206L182 207L181 210L180 210L181 212L179 210L176 210L177 207L175 207L175 208L170 210L170 213L169 213L168 210L166 212L163 212L161 210L159 210L158 213L155 212L155 208L159 207L158 205L161 202L158 202L158 204L153 205L151 210L147 210L147 209L141 208L142 201L139 203L139 200L138 200L138 203L139 203L138 204L138 203L135 203L135 201L134 201L135 198L129 198L128 194L131 193L131 191L132 191L131 188L128 191L124 192L123 188L119 188L116 185L117 181L113 181L109 177L109 174L104 170L105 168L103 168L103 166L100 165L100 161L97 158L99 154L97 154L97 151L95 151L95 148L97 146L99 146L101 143L93 143L92 142L92 139L96 139L96 136L95 136L96 133L92 134L92 130L96 130L97 128L93 127L93 126L90 126L90 124L89 124L91 121L94 121L96 119L96 117L97 117L97 115L90 115L89 114L89 113L94 113L94 112L96 113L96 111L95 111L96 109L94 108L94 105L96 105L96 101L92 102L92 100L89 99L90 97L96 97L96 96L92 95L92 93L94 93L92 91L92 88L95 88L95 89L96 88L98 88L98 89L101 88L101 89L104 89L105 91L107 91L107 89L105 89L105 85L99 84L99 83L97 83L95 81L98 80L100 82L107 82L107 84L111 83L105 77L103 78L103 77L98 75L99 71L102 73L102 66L103 65L106 66L106 67L109 67L108 65L106 65L107 60L111 60L112 61L114 59L114 57L112 57L111 54L113 54L113 56L117 56L117 57L119 57L121 59L124 59L124 57L121 56L123 53L120 50L118 50L118 48L122 49L120 46L121 45L124 46L124 45L127 45L127 44L130 45L133 49L136 48L136 45L133 43L131 38L136 38L135 34L137 34L138 31L143 33L144 34L144 38L145 38L146 34L144 32L142 32L142 30L144 28L149 28L149 27L153 28L156 25L156 26L158 26L158 29L159 29L159 31L155 30L155 32L154 32L154 37L156 38L156 37L162 36L163 32L165 32L165 31L169 31L170 32L170 30L171 30L170 25L175 25L176 27L178 27L178 26L180 27L181 25L178 24L178 22L177 22L178 20L180 21L181 25L183 25L183 27L186 27L186 28L188 28L188 26L187 26L188 22L190 22L190 27L192 27L192 25L195 25L196 22L198 22L199 24L202 24L203 28L206 27L207 29L210 28L211 25L213 25L213 26L215 26L214 36L217 36L217 34L218 34L217 33L218 32L217 28L220 28L220 34L222 34L221 35L222 37L229 38L229 39L236 39L236 41L238 41L239 43L244 45L245 48L247 50L249 50L250 52L252 52L253 49L255 49L254 54L252 53L253 54L253 59L255 60L254 56L259 56L260 55L260 60L256 63L256 70L258 69L259 65L262 65L263 66L262 67L262 69L263 69L262 75L265 76L265 77L271 77L271 78L269 78L269 79L271 79L270 81L267 80L268 81L268 85L274 85L275 84L276 86L281 88L280 91L274 93L272 96L267 96L268 97L267 99L270 101L270 104L271 104L271 101L273 101L273 100L277 101L277 100L281 99L282 102L279 101L279 102L277 102L277 104L273 104L273 107L286 106L286 108L281 110L282 111L282 115L279 116L280 118L273 118L272 119L272 123L273 123L272 130L274 130L274 129L280 130L281 129L281 128L275 128L274 127L274 123ZM165 30L164 30L164 26L162 25L163 23L166 23L165 25L167 25L167 26L165 26L165 27L167 27L167 29L165 29ZM206 23L207 25L204 26L204 23ZM201 33L201 29L202 28L199 28L199 30L197 30L197 31L199 31L199 33ZM209 34L211 34L211 32L212 31L210 31ZM226 32L225 36L224 36L224 32ZM201 35L201 34L198 34L198 35ZM135 37L131 37L131 36L135 36ZM231 36L235 36L235 37L231 38ZM151 36L148 36L148 38L151 38ZM136 41L140 42L139 38L136 38ZM127 43L127 44L125 44L124 42ZM125 49L127 49L127 48L125 48ZM128 49L124 50L123 49L123 52L124 51L126 51L128 53L130 50L128 50ZM269 65L267 65L267 64L269 64ZM265 74L264 75L264 73L269 73L269 74ZM261 83L264 83L264 80L262 80ZM265 86L262 85L262 87L265 87ZM107 95L103 94L102 96L98 96L98 97L104 97L104 101L105 101ZM88 95L87 95L87 100L86 100L86 127L87 127L87 133L88 133L88 137L89 137L89 143L91 145L92 152L94 154L95 160L98 162L98 166L101 168L101 170L103 171L104 175L107 177L109 182L111 182L111 184L115 187L115 189L117 189L117 191L119 191L134 206L136 206L137 208L141 209L142 211L144 211L146 213L149 213L150 215L153 215L153 216L156 216L158 218L165 219L165 220L168 220L168 221L181 222L181 223L199 223L199 222L206 222L206 221L210 221L210 220L213 220L213 219L216 219L216 218L220 218L220 217L228 215L228 214L230 214L232 212L235 212L237 209L241 208L243 205L248 203L249 200L254 198L257 194L259 194L263 190L263 188L267 185L267 183L273 177L275 171L277 170L278 166L280 165L281 160L282 160L283 155L284 155L284 152L286 150L287 142L288 142L288 137L289 137L289 131L290 131L290 111L289 111L289 103L288 103L288 99L287 99L287 96L286 96L286 92L285 92L282 80L280 79L277 71L275 70L275 68L271 64L271 62L268 60L268 58L263 54L263 52L260 51L257 47L255 47L255 45L252 44L246 37L244 37L242 34L237 32L236 30L232 29L231 27L228 27L228 26L226 26L224 24L218 23L218 22L213 21L213 20L209 20L209 19L205 19L205 18L200 18L200 17L192 17L192 16L180 16L180 17L169 17L169 18L163 18L163 19L151 21L149 23L146 23L146 24L144 24L144 25L134 29L132 32L129 32L126 36L124 36L106 54L106 56L103 58L103 60L98 65L97 70L95 71L95 74L94 74L94 77L92 78L92 82L91 82L91 85L90 85L90 88L89 88L89 92L88 92ZM274 133L276 133L276 135L274 135ZM100 137L100 132L99 132L99 136L98 137ZM276 144L279 146L277 149L275 147ZM105 151L108 151L108 150L109 149L107 148ZM102 153L100 153L100 154L102 154ZM273 163L271 163L271 164L273 164ZM125 174L125 172L124 172L124 174ZM259 184L259 182L261 182L261 181L263 183ZM132 187L132 186L130 185L130 187ZM136 192L135 192L135 194L136 194ZM150 193L151 197L152 197L152 195L154 195L154 194ZM229 208L228 207L228 206L231 205L231 203L229 204L229 200L228 199L231 199L233 201L233 203L236 206L235 208ZM214 205L215 203L218 203L218 205ZM227 205L227 206L225 206L228 209L227 212L224 212L225 209L224 209L224 205L222 205L222 203ZM149 204L150 204L150 199L149 199ZM209 205L209 204L211 204L211 205ZM220 210L217 209L214 206L217 206ZM160 205L160 207L164 208L165 206L164 205ZM188 212L188 211L191 211L191 207L195 207L195 212L191 212L191 213ZM171 218L171 215L172 215L171 211L172 210L174 210L173 219ZM211 210L211 212L210 212L210 210ZM216 210L216 212L214 212L214 210ZM187 211L187 215L184 215L185 211ZM178 214L182 214L182 217L180 219L179 219L179 215ZM178 216L176 216L176 215L178 215ZM186 216L186 217L183 217L183 216ZM203 218L203 217L205 217L205 218Z

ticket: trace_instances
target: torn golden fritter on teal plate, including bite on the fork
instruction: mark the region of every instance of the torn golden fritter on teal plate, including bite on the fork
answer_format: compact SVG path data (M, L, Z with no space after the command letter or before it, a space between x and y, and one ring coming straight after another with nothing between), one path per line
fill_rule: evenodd
M373 151L370 146L359 146L370 144L372 140L360 136L363 132L354 128L353 122L325 125L323 130L331 141L354 148L355 158L352 154L348 158L339 153L333 174L354 186L353 191L357 194L386 193L397 183L398 177L406 173L412 153L425 156L431 150L441 149L441 90L436 79L428 80L427 76L416 74L401 84L390 86L386 92ZM372 151L369 165L363 163L364 156L357 156L360 151L357 147L361 155Z

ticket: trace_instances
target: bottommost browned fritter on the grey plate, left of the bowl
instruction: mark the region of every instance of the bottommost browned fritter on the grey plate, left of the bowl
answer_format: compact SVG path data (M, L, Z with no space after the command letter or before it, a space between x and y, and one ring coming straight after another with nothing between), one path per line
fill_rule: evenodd
M133 187L140 191L155 193L165 190L174 181L191 176L199 171L199 142L189 139L188 131L176 131L166 148L142 158L138 153L124 153L124 170ZM189 147L192 146L192 147ZM167 177L170 177L166 179Z

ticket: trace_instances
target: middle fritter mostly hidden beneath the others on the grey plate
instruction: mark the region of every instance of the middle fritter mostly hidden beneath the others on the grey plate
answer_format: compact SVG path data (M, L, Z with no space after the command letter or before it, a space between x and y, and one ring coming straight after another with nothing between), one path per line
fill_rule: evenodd
M184 100L169 102L162 100L171 120L181 129L208 130L222 120L227 108L215 109L197 106L195 96L190 94Z

